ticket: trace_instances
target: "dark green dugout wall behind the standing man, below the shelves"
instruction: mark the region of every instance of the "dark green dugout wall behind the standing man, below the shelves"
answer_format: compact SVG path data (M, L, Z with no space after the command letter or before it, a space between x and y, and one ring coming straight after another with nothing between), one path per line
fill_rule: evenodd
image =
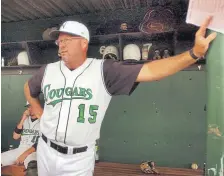
M24 111L23 85L31 75L2 75L2 149L16 146L12 132ZM200 167L206 160L206 74L181 71L142 83L111 101L102 124L100 159L154 160L159 166Z

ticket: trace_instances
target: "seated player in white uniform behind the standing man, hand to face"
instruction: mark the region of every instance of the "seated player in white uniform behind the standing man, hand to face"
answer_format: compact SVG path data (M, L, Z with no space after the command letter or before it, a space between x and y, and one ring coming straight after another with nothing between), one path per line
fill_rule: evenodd
M13 132L15 140L20 139L19 147L1 154L2 166L24 164L27 168L30 161L36 161L36 147L40 134L40 120L36 118L32 107L27 109Z

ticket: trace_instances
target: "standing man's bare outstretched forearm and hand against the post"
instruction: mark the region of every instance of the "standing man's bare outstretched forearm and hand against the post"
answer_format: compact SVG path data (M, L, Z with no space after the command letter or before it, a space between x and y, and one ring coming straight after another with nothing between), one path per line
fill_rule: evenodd
M216 33L210 34L207 38L205 37L206 29L211 20L212 17L208 17L195 35L195 43L191 52L198 58L205 55L209 48L210 42L216 37ZM197 59L194 59L191 56L190 51L187 51L177 56L145 63L139 72L136 82L147 82L163 79L177 73L180 70L183 70L184 68L194 64L196 61Z

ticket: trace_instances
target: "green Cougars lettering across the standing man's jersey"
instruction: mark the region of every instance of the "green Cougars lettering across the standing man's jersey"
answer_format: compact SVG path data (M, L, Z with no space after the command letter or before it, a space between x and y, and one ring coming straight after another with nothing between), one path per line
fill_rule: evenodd
M69 96L69 97L68 97ZM44 86L44 99L48 102L48 105L55 106L57 103L63 100L71 99L92 99L93 94L90 88L83 87L66 87L59 89L51 89L51 84Z

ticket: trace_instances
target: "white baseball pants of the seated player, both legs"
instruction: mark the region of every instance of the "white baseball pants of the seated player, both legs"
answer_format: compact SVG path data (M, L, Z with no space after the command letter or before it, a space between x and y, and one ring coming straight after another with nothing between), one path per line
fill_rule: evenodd
M19 148L13 149L13 150L3 152L1 154L2 166L9 166L9 165L15 164L15 161L17 160L17 158L21 154L23 154L23 152L28 150L29 148L30 148L30 146L29 147L19 147ZM35 160L35 161L37 160L36 152L33 152L29 156L26 157L26 159L24 160L25 168L27 168L28 163L32 160Z

